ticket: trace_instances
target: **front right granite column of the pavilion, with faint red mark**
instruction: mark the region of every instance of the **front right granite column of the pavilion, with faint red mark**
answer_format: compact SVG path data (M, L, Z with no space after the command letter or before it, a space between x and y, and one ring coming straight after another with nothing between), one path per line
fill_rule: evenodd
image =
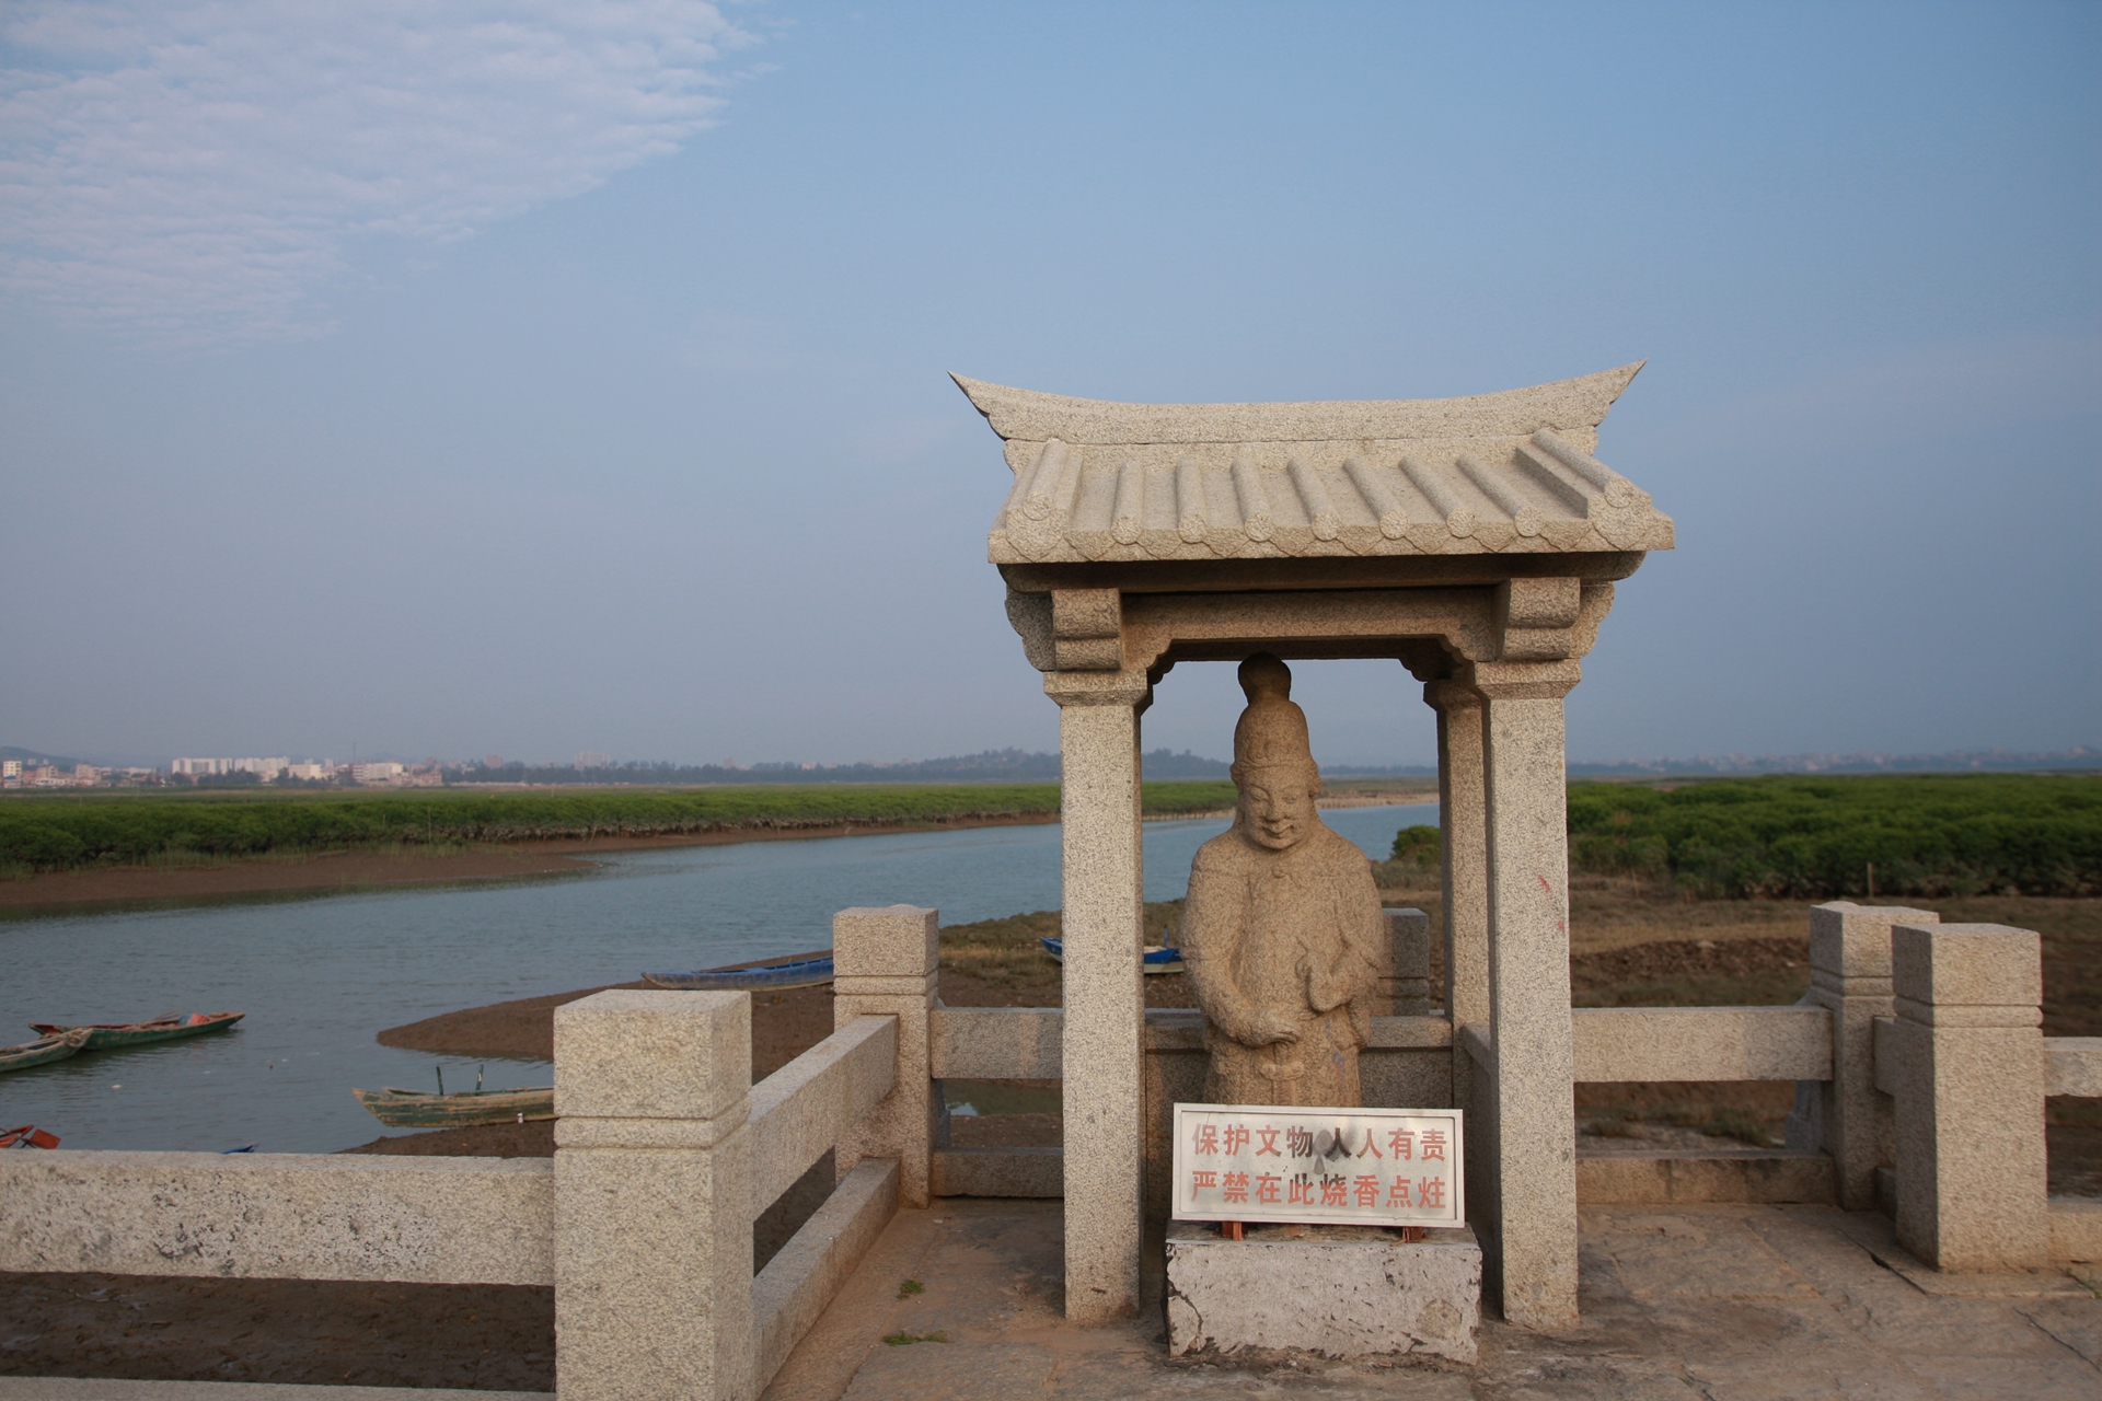
M1570 1046L1562 697L1576 662L1480 662L1503 1317L1576 1321L1576 1109Z

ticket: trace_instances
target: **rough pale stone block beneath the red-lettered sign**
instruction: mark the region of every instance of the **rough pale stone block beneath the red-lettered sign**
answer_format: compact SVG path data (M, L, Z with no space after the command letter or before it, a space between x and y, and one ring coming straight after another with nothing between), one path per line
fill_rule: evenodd
M1169 1353L1301 1348L1326 1357L1434 1353L1474 1361L1482 1248L1467 1227L1404 1243L1383 1227L1171 1220Z

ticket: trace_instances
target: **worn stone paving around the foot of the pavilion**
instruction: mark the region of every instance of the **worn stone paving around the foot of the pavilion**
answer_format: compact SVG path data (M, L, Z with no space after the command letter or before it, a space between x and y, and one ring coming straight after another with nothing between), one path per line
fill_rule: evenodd
M1885 1218L1837 1208L1587 1210L1583 1325L1484 1321L1469 1367L1171 1361L1158 1306L1070 1327L1062 1231L1057 1201L900 1212L767 1401L2102 1397L2102 1298L2085 1285L2054 1273L1997 1294L1928 1292L1879 1262ZM921 1292L900 1292L906 1279Z

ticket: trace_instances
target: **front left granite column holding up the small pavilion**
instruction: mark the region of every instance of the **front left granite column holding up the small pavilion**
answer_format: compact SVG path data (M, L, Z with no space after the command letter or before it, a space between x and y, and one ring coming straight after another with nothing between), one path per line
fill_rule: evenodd
M1066 1317L1101 1323L1139 1306L1146 691L1062 681L1045 678L1059 702L1064 775Z

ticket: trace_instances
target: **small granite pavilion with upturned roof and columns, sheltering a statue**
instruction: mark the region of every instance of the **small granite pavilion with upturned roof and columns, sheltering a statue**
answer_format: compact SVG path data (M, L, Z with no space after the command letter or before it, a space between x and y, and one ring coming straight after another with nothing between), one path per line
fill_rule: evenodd
M1671 517L1600 462L1642 365L1465 399L1104 403L959 378L988 552L1059 706L1066 1300L1139 1306L1139 716L1177 662L1394 657L1438 712L1469 1216L1513 1323L1576 1317L1562 699Z

